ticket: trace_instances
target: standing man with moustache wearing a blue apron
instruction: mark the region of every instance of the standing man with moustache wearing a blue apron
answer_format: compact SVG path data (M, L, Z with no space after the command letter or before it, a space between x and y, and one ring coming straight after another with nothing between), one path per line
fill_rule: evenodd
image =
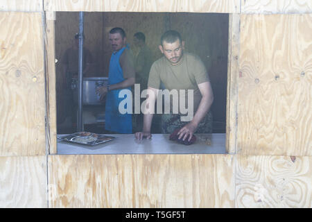
M114 52L110 58L108 85L97 90L101 99L106 95L105 130L132 133L132 114L119 112L119 103L126 97L119 98L119 92L122 89L131 90L131 86L135 85L134 59L122 28L112 28L109 39Z

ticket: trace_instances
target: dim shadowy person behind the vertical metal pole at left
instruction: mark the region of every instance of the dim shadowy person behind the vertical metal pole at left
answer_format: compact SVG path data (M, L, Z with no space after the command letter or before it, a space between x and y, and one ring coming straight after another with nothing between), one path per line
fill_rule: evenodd
M92 54L84 46L83 47L83 75L89 73L92 65ZM71 84L73 83L73 78L78 78L78 67L79 67L79 33L76 33L73 38L73 45L67 49L62 57L62 73L65 76L65 104L66 104L66 119L65 124L76 122L76 108L77 105L73 101L73 90L71 89ZM71 120L70 120L71 119Z

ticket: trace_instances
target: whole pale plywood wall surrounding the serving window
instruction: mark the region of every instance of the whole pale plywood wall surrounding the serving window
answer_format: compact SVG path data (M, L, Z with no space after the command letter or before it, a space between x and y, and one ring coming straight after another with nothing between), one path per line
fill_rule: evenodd
M124 2L0 2L0 207L311 208L311 1ZM42 3L51 11L241 13L229 44L234 154L48 155L43 42L51 33ZM295 14L263 15L286 13Z

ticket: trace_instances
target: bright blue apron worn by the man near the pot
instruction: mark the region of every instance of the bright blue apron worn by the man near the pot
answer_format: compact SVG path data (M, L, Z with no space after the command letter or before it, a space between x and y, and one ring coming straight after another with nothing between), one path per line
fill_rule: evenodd
M125 80L125 78L123 78L123 70L119 64L119 58L124 50L125 47L116 53L112 53L112 57L110 58L110 71L108 73L109 85L121 83ZM131 87L126 89L131 90ZM119 112L119 103L126 98L126 95L123 98L119 98L118 95L121 90L122 89L114 89L106 94L105 129L116 133L132 133L132 115L128 113L121 114Z

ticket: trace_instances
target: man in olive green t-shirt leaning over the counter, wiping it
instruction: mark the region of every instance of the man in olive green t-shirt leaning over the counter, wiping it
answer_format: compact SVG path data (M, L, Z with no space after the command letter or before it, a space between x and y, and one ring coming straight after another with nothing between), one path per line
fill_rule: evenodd
M190 140L193 133L211 133L212 117L209 108L214 101L214 96L205 65L198 56L183 53L184 41L177 31L164 33L159 49L164 56L153 63L148 78L146 104L151 105L151 112L144 114L143 132L135 133L135 137L137 139L151 138L153 104L155 104L161 82L168 90L193 89L191 100L195 112L193 119L189 122L180 121L180 109L178 114L162 114L162 133L173 133L175 128L181 128L177 135L183 140ZM187 94L185 98L188 98ZM210 132L207 132L207 129Z

